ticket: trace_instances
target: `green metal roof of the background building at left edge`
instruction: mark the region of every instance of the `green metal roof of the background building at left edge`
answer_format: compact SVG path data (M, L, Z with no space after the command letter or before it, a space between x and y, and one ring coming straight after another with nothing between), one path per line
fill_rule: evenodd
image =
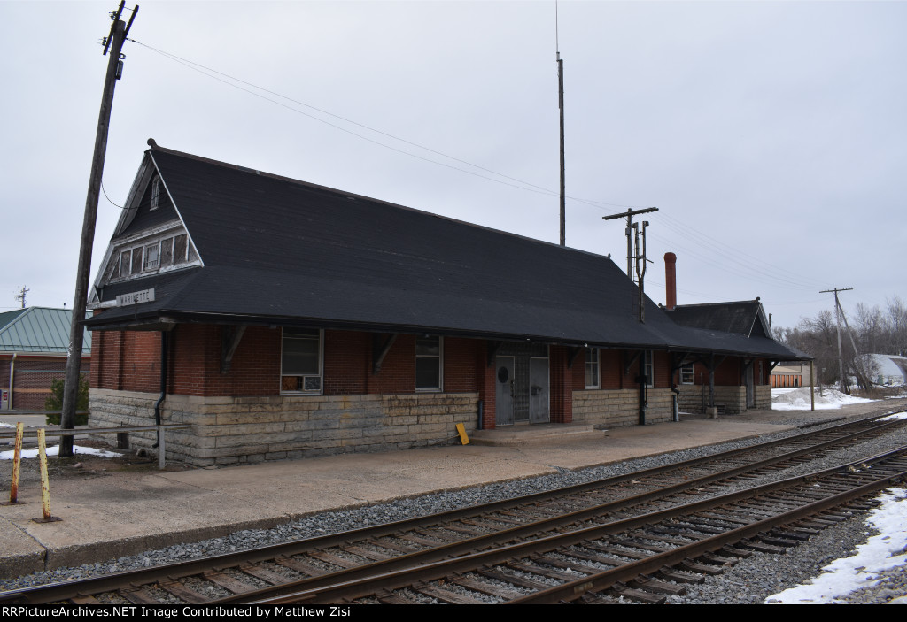
M65 355L73 322L71 309L29 307L0 313L0 352ZM84 356L92 353L92 336L85 330Z

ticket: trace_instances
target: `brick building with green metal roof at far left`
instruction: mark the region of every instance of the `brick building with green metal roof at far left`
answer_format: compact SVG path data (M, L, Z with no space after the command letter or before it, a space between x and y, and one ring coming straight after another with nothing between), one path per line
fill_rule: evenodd
M70 309L0 313L0 410L44 410L51 382L65 376L72 322ZM91 366L92 339L86 330L82 374L89 374Z

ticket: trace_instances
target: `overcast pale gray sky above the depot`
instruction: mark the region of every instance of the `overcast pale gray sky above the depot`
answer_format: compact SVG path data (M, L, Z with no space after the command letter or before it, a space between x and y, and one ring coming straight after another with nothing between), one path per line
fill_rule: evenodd
M114 203L153 137L558 241L553 2L140 4L104 169ZM0 0L0 311L21 285L30 306L73 304L116 6ZM854 288L847 310L907 298L907 3L561 2L559 16L567 194L582 199L569 246L625 266L622 221L601 216L658 206L655 301L668 251L679 303L761 296L775 325L831 309L818 292L835 286ZM93 274L119 213L102 196Z

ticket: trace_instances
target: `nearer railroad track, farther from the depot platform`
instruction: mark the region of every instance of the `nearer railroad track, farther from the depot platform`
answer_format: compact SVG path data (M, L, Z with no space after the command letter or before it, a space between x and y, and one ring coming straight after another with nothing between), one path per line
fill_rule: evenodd
M304 589L253 604L551 604L608 601L611 591L657 603L692 582L690 571L719 574L751 550L784 552L850 506L907 478L907 446L863 461L755 489L647 512L538 540L502 545L428 566ZM666 580L667 579L667 580ZM673 581L668 582L668 581Z

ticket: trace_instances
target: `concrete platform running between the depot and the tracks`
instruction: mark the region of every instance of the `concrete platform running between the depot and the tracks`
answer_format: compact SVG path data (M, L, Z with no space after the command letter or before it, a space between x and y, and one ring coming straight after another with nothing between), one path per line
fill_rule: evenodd
M40 485L34 473L20 484L20 503L0 506L0 576L109 560L271 527L326 510L773 434L791 429L785 421L794 419L824 423L904 409L907 398L813 413L752 410L718 419L688 416L678 423L610 430L577 426L578 434L555 437L541 433L548 426L525 426L500 431L502 438L513 441L502 445L451 445L221 469L158 471L147 464L83 475L72 464L58 465L50 489L52 512L61 521L33 521L41 516ZM5 463L0 464L5 500L10 461L0 462ZM35 471L34 465L29 468Z

